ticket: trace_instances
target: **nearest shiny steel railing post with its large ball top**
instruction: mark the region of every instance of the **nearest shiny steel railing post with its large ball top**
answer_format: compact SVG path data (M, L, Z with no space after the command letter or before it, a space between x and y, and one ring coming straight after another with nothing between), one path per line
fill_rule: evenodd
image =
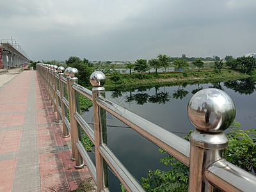
M212 163L225 159L228 138L223 131L236 116L234 102L221 90L200 90L189 101L188 116L196 127L190 138L189 191L216 191L204 174Z

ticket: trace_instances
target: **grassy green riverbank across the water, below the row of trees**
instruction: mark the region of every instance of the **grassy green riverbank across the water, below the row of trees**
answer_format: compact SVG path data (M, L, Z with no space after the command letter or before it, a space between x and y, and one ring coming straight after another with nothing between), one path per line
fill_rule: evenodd
M205 70L201 72L168 72L159 74L113 74L107 76L104 87L106 90L116 88L136 88L138 86L148 85L175 85L175 84L196 84L196 83L215 83L220 81L234 81L252 77L234 70L222 70L214 72L213 70Z

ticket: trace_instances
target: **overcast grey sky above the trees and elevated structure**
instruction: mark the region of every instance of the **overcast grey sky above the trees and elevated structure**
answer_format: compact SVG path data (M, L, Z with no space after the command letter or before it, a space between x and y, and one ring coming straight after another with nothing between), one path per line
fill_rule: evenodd
M256 52L256 0L0 0L0 25L34 61Z

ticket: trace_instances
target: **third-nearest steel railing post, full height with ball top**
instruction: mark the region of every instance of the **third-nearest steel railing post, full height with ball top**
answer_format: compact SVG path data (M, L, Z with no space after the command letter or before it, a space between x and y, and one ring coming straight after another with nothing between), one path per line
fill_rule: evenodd
M78 70L76 68L70 68L68 70L69 78L67 78L68 84L68 106L69 106L69 117L70 117L70 127L71 127L71 143L72 143L72 158L76 159L75 167L77 169L83 168L84 162L83 158L79 154L76 143L81 138L81 130L78 130L77 121L74 117L77 112L77 102L79 102L79 98L77 97L76 91L72 88L72 84L77 84ZM79 127L79 129L81 129Z

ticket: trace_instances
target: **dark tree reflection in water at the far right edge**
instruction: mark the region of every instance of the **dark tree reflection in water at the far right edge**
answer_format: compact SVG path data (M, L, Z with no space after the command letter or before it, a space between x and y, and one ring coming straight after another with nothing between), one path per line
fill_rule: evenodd
M253 92L255 92L255 84L255 79L251 78L228 81L224 83L227 88L230 88L239 94L245 95L251 95Z

